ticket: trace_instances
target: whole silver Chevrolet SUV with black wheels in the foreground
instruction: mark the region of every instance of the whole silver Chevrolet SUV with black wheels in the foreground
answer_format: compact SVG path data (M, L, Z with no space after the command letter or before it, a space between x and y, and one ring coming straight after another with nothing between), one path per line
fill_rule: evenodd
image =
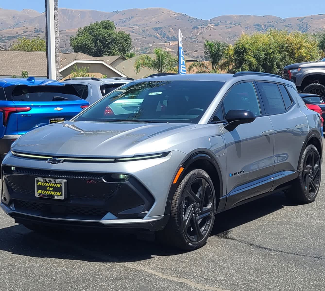
M133 111L107 113L134 99ZM314 201L321 160L320 116L292 82L254 72L157 76L17 139L1 167L1 207L36 231L156 231L192 250L218 212L278 191Z

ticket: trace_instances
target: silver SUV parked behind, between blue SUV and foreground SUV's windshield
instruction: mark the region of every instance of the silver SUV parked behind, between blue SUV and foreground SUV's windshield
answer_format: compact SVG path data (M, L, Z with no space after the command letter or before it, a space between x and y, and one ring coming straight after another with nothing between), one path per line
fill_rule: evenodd
M125 77L111 77L111 78L94 78L94 77L79 77L66 79L63 82L72 84L77 90L80 97L90 104L107 95L111 91L119 88L134 79Z

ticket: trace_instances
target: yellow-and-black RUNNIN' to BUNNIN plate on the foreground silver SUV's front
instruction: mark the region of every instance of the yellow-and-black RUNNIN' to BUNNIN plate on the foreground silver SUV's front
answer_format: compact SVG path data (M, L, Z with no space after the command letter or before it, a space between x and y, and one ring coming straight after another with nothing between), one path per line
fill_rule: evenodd
M35 196L63 200L66 198L67 180L35 178Z

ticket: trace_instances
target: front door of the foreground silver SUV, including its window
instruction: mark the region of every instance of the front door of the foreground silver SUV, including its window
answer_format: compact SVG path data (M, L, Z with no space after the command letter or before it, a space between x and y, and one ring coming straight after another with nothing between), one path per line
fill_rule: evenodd
M273 184L274 130L263 116L253 82L234 85L223 101L225 114L231 109L252 111L252 123L235 128L223 126L227 155L227 208L268 192Z

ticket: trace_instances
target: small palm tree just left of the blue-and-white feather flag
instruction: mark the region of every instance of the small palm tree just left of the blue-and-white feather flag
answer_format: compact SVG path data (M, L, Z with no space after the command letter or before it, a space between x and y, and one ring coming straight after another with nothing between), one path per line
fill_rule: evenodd
M177 71L178 59L170 52L161 47L154 49L155 57L149 55L140 55L134 63L134 69L138 74L142 68L151 69L158 73L169 73Z

